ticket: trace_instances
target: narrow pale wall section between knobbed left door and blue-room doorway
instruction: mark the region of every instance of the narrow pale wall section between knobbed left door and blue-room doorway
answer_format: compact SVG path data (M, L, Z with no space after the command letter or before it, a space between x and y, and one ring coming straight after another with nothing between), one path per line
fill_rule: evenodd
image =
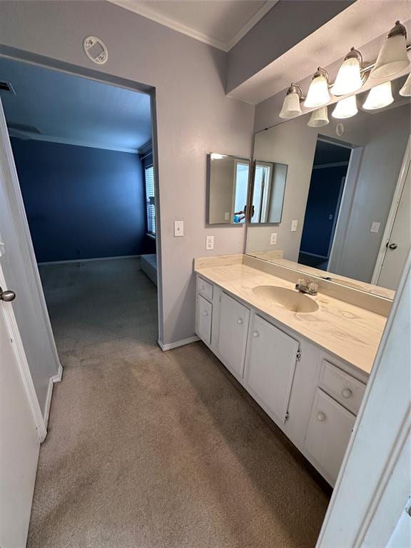
M0 264L7 285L12 285L18 295L13 303L14 314L26 356L29 358L41 414L46 417L49 380L59 373L59 357L41 288L1 101ZM41 417L38 420L41 422Z

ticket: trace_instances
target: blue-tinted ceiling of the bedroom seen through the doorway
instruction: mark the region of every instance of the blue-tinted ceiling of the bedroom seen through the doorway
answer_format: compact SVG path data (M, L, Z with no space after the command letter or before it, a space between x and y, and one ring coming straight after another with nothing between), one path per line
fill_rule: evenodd
M151 138L146 94L1 56L0 81L15 91L0 91L14 136L126 152Z

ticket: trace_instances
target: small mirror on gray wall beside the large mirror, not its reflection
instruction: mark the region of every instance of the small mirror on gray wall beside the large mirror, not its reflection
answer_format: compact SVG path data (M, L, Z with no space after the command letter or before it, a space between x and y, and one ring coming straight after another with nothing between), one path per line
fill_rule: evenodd
M208 166L208 224L245 223L247 211L247 158L210 153Z

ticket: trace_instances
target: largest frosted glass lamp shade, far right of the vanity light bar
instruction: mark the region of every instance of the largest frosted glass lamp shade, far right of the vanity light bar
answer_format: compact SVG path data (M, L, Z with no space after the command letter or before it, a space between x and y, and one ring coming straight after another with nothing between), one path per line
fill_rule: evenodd
M385 39L374 68L370 73L371 78L386 78L403 71L410 64L407 56L407 29L395 21Z

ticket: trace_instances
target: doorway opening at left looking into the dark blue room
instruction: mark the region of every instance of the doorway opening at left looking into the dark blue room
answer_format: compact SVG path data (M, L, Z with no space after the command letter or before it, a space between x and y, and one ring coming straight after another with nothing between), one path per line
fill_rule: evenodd
M3 56L0 81L62 365L156 341L151 96Z

